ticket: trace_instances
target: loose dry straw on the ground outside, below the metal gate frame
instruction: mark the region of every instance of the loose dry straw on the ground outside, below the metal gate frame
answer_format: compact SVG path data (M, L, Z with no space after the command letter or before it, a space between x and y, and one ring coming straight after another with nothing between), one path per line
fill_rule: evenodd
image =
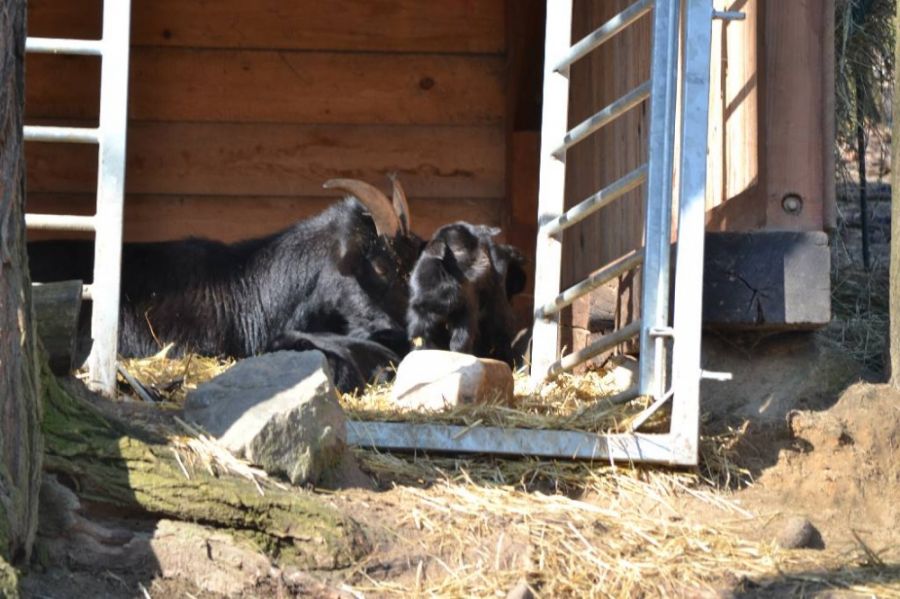
M900 596L897 570L861 570L863 551L826 556L750 540L742 530L754 516L691 473L361 457L430 482L399 486L392 498L407 506L404 528L417 531L395 539L417 556L414 580L376 579L364 562L353 590L366 596L502 597L522 578L540 597L713 595L751 579ZM526 490L536 478L579 488L579 498ZM706 515L685 517L685 501Z

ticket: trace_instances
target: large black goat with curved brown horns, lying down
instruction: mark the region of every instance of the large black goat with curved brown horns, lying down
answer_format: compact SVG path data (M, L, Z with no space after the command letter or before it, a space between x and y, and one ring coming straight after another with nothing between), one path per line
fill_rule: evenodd
M150 355L166 343L238 358L320 349L345 391L399 361L409 349L407 279L422 246L406 196L396 179L393 205L361 181L325 187L351 195L267 237L125 244L119 353ZM28 250L36 281L93 278L90 242Z

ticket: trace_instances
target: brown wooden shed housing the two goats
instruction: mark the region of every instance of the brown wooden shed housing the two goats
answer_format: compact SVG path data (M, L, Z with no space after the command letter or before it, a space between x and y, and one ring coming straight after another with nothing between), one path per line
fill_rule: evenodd
M577 0L573 39L628 4ZM707 320L815 326L829 318L833 1L716 7L746 19L713 25L708 230L727 234L708 243ZM101 12L31 0L28 32L96 39ZM396 171L418 233L499 225L533 257L544 20L543 0L133 0L126 241L272 232L333 201L328 178L386 186ZM573 68L572 123L647 79L649 45L643 17ZM96 124L99 58L26 68L29 124ZM645 159L646 120L643 105L570 153L567 201ZM96 148L26 154L29 212L93 213ZM642 222L634 191L568 232L563 285L639 247ZM632 318L635 287L577 302L563 343ZM520 308L525 321L528 297Z

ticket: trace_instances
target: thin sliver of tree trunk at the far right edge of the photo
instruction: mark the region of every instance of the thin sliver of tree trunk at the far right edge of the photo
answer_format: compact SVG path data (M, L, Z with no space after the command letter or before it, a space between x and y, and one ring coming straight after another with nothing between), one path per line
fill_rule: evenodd
M891 127L891 273L890 273L890 383L900 389L900 0L894 17L894 98Z

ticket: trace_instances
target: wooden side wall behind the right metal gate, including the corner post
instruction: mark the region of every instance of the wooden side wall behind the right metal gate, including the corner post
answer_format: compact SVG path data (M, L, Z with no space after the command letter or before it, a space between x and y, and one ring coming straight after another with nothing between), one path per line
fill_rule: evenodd
M573 41L631 4L575 0ZM713 22L707 214L710 231L821 231L833 226L833 0L715 0L744 21ZM572 69L574 126L649 77L651 15ZM567 157L572 205L647 159L646 103ZM643 245L642 190L564 236L563 287ZM788 194L799 213L782 207ZM621 277L563 314L562 344L580 348L639 313L639 278Z

